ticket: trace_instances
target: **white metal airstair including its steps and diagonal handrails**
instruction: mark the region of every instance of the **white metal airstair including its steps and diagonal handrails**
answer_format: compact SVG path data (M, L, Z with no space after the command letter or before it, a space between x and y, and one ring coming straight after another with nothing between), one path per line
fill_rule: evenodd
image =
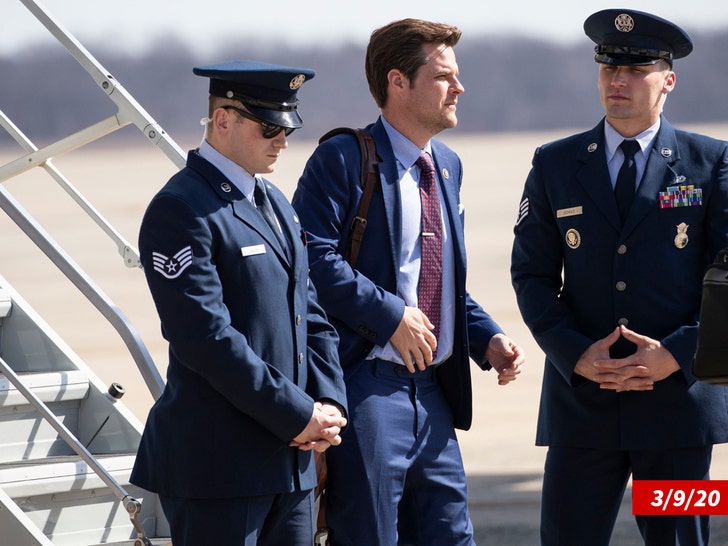
M0 126L22 155L0 165L0 208L71 281L124 341L154 399L163 379L128 319L10 195L4 182L44 169L114 241L127 267L137 250L52 164L117 129L135 125L175 165L184 154L92 55L35 0L19 0L88 72L117 112L37 148L3 113ZM142 424L0 276L0 544L4 546L169 545L156 496L129 484Z

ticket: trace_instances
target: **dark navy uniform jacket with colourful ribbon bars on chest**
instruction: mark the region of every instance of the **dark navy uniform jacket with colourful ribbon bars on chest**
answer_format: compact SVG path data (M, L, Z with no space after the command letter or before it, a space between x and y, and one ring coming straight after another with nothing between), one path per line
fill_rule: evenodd
M661 208L659 194L671 186L702 190L702 205ZM518 305L546 354L537 444L663 449L728 441L728 390L691 373L702 277L728 246L725 142L663 118L622 227L602 120L536 150L514 231ZM601 390L575 375L582 353L620 323L659 340L681 370L645 392ZM633 351L620 339L612 356Z

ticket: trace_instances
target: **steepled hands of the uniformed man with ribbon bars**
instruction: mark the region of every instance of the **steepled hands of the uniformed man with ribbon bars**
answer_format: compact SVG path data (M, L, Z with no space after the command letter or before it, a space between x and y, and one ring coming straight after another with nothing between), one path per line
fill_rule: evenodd
M634 343L637 351L625 358L610 358L609 348L620 337ZM574 373L599 383L601 389L624 392L652 390L655 382L679 369L672 353L659 341L618 326L581 355Z

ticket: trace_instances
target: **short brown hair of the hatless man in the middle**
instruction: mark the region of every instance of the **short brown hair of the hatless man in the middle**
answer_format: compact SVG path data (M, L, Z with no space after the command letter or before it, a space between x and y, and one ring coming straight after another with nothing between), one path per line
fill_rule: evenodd
M444 23L421 19L394 21L372 32L365 61L369 91L380 108L387 102L387 75L390 70L402 72L409 80L427 62L422 46L443 44L454 47L460 40L460 29Z

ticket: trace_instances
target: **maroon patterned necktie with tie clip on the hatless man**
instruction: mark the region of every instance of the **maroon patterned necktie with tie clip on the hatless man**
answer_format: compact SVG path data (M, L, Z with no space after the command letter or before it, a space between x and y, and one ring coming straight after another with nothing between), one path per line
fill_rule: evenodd
M422 261L417 285L420 310L435 325L433 334L440 334L440 302L442 300L442 216L440 195L435 179L435 165L430 154L423 153L416 162L420 168L420 201L422 203ZM434 355L433 355L434 356Z

